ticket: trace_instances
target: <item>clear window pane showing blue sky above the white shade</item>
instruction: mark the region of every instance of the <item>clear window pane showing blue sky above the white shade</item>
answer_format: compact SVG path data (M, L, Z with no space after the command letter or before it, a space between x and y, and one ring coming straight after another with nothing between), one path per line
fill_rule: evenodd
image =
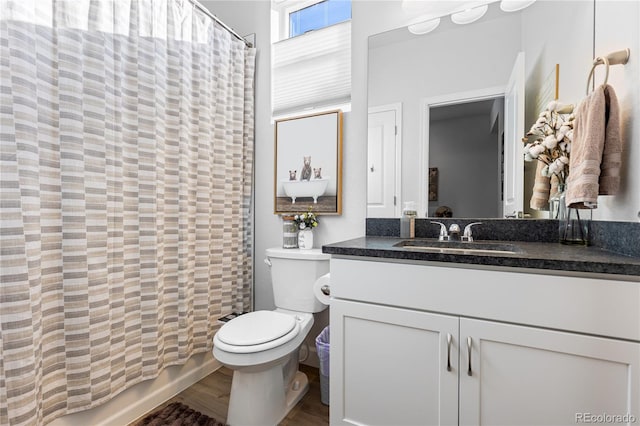
M351 2L324 0L289 13L289 37L351 19Z

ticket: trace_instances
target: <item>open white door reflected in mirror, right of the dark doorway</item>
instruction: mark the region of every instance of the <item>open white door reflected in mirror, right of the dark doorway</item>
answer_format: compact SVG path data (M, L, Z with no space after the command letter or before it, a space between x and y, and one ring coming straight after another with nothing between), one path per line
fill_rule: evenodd
M504 98L504 217L524 210L524 52L518 53Z

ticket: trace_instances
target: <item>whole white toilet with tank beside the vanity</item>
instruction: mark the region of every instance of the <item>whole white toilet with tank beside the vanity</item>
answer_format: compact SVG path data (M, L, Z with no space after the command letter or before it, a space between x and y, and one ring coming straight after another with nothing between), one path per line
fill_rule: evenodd
M327 308L313 285L329 273L320 249L266 250L276 309L238 316L213 338L213 356L233 370L227 424L276 425L309 389L298 352L313 313Z

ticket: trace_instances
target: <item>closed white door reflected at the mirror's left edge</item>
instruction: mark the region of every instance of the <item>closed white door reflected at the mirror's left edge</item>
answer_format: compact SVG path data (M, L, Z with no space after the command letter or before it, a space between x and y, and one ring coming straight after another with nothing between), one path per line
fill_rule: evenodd
M369 110L367 217L400 216L400 115L399 104Z

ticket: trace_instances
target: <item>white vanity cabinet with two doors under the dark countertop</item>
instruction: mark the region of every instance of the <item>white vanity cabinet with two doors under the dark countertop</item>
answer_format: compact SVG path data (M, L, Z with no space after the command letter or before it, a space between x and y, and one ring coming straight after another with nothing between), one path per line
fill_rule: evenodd
M331 262L332 425L640 422L638 282Z

